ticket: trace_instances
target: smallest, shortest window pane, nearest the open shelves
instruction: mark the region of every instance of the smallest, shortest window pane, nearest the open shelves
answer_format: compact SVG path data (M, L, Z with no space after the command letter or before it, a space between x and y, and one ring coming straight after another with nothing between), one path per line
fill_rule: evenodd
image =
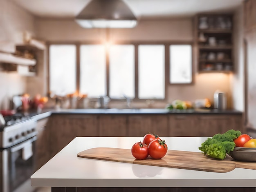
M170 83L192 82L191 45L170 46Z

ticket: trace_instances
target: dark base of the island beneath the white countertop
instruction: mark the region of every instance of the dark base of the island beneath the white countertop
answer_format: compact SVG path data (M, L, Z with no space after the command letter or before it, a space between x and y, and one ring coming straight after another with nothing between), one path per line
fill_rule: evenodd
M256 192L256 188L85 188L53 187L52 192Z

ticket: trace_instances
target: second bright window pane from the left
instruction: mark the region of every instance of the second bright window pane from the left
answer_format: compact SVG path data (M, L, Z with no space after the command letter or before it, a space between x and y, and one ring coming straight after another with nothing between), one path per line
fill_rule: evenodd
M80 93L89 98L106 96L106 50L104 45L80 47Z

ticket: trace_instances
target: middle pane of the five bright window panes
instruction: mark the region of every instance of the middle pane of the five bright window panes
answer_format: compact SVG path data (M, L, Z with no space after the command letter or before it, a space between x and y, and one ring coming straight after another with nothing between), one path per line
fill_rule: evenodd
M109 51L110 97L135 98L135 47L112 45Z

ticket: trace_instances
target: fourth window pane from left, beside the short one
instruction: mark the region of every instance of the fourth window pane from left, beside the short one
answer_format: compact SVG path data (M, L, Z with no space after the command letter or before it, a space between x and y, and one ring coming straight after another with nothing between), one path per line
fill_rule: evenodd
M139 45L139 98L164 99L164 45Z

